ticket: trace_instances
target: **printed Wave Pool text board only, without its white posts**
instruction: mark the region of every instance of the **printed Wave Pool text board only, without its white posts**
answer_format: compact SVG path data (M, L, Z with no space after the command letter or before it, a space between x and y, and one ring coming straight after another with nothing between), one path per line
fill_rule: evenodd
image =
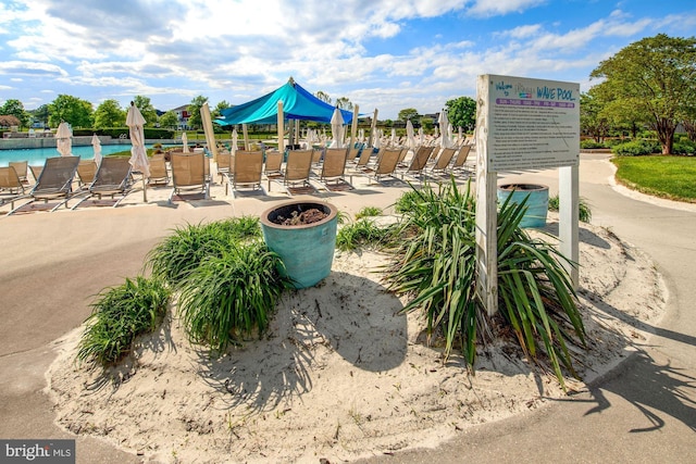
M487 78L488 171L577 165L580 84Z

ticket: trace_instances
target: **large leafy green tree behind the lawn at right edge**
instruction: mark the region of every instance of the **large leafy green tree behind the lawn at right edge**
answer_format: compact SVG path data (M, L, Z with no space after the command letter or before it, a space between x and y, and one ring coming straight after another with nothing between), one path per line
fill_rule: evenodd
M672 152L674 130L688 113L696 80L696 38L647 37L599 63L592 78L616 108L636 111L657 133L662 153Z

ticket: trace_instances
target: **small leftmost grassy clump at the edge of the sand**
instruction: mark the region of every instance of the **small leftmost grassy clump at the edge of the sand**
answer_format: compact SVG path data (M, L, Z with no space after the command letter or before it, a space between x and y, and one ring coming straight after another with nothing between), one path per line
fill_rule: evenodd
M170 291L159 279L138 276L102 290L91 304L77 360L109 365L130 351L140 334L157 327L166 312Z

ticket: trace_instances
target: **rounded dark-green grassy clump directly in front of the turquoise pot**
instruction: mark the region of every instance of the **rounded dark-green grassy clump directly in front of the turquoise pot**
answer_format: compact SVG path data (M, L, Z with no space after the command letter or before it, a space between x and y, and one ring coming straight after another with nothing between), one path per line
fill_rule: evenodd
M293 288L282 265L260 240L206 258L182 284L179 311L190 339L223 351L254 330L261 337L283 290Z

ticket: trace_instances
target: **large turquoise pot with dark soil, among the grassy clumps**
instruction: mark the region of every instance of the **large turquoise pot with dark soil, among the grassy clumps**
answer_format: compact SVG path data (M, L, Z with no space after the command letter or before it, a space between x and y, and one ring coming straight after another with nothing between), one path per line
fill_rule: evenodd
M311 224L277 224L278 217L291 218L312 209L326 217ZM293 279L295 288L312 287L331 274L337 223L336 206L312 201L284 203L261 214L265 244L281 256L285 265L282 273Z

